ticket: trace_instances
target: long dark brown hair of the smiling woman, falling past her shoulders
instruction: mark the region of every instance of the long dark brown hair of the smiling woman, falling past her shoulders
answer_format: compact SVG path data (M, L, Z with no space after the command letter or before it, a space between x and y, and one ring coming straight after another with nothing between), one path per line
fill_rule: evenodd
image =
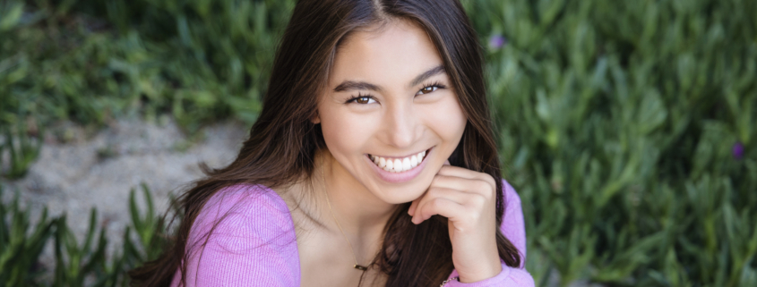
M220 169L204 168L177 201L184 218L156 260L129 272L133 285L165 286L176 270L185 283L187 239L195 217L216 192L238 183L270 188L307 180L316 151L325 148L320 125L310 121L328 80L338 46L349 33L391 20L412 21L426 30L468 118L452 165L488 173L497 183L499 257L520 266L518 250L499 231L504 212L502 176L486 103L481 47L458 0L301 0L297 3L274 59L262 112L237 158ZM452 273L452 243L446 218L411 224L409 204L398 208L384 230L383 246L372 265L388 274L387 286L431 286ZM194 246L192 247L194 248ZM362 280L361 280L362 281Z

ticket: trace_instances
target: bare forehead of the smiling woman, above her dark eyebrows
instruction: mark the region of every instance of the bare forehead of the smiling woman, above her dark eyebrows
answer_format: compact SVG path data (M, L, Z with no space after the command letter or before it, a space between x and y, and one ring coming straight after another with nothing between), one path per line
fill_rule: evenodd
M342 80L404 87L440 64L442 58L425 30L410 21L391 21L349 35L335 55L329 82L331 89Z

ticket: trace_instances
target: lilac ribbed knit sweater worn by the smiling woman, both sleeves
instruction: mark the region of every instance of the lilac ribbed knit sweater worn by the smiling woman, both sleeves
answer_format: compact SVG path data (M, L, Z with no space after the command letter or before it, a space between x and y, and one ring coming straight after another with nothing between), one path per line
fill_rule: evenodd
M502 232L526 257L526 231L520 197L503 181L507 207ZM225 215L225 217L224 217ZM204 249L202 234L211 233ZM220 190L202 207L187 241L189 254L186 284L189 286L300 286L297 234L287 204L275 191L261 186L237 185ZM198 245L201 246L201 245ZM457 276L453 270L450 278ZM179 285L179 271L171 286ZM307 284L305 284L307 285ZM502 264L502 272L477 283L452 281L445 286L534 286L531 275L521 265Z

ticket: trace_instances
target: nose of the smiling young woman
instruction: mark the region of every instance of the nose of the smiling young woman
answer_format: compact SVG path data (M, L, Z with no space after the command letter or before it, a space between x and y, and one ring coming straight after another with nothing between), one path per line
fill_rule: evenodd
M423 134L422 114L414 111L412 101L391 105L384 116L386 141L395 148L412 148Z

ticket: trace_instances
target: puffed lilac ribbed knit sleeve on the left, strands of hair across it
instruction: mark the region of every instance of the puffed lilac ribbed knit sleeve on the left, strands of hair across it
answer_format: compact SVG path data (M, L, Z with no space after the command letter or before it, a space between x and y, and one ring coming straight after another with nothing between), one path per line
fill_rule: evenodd
M219 190L192 225L185 286L298 286L297 238L290 216L273 190ZM177 271L171 286L179 286L180 277Z

